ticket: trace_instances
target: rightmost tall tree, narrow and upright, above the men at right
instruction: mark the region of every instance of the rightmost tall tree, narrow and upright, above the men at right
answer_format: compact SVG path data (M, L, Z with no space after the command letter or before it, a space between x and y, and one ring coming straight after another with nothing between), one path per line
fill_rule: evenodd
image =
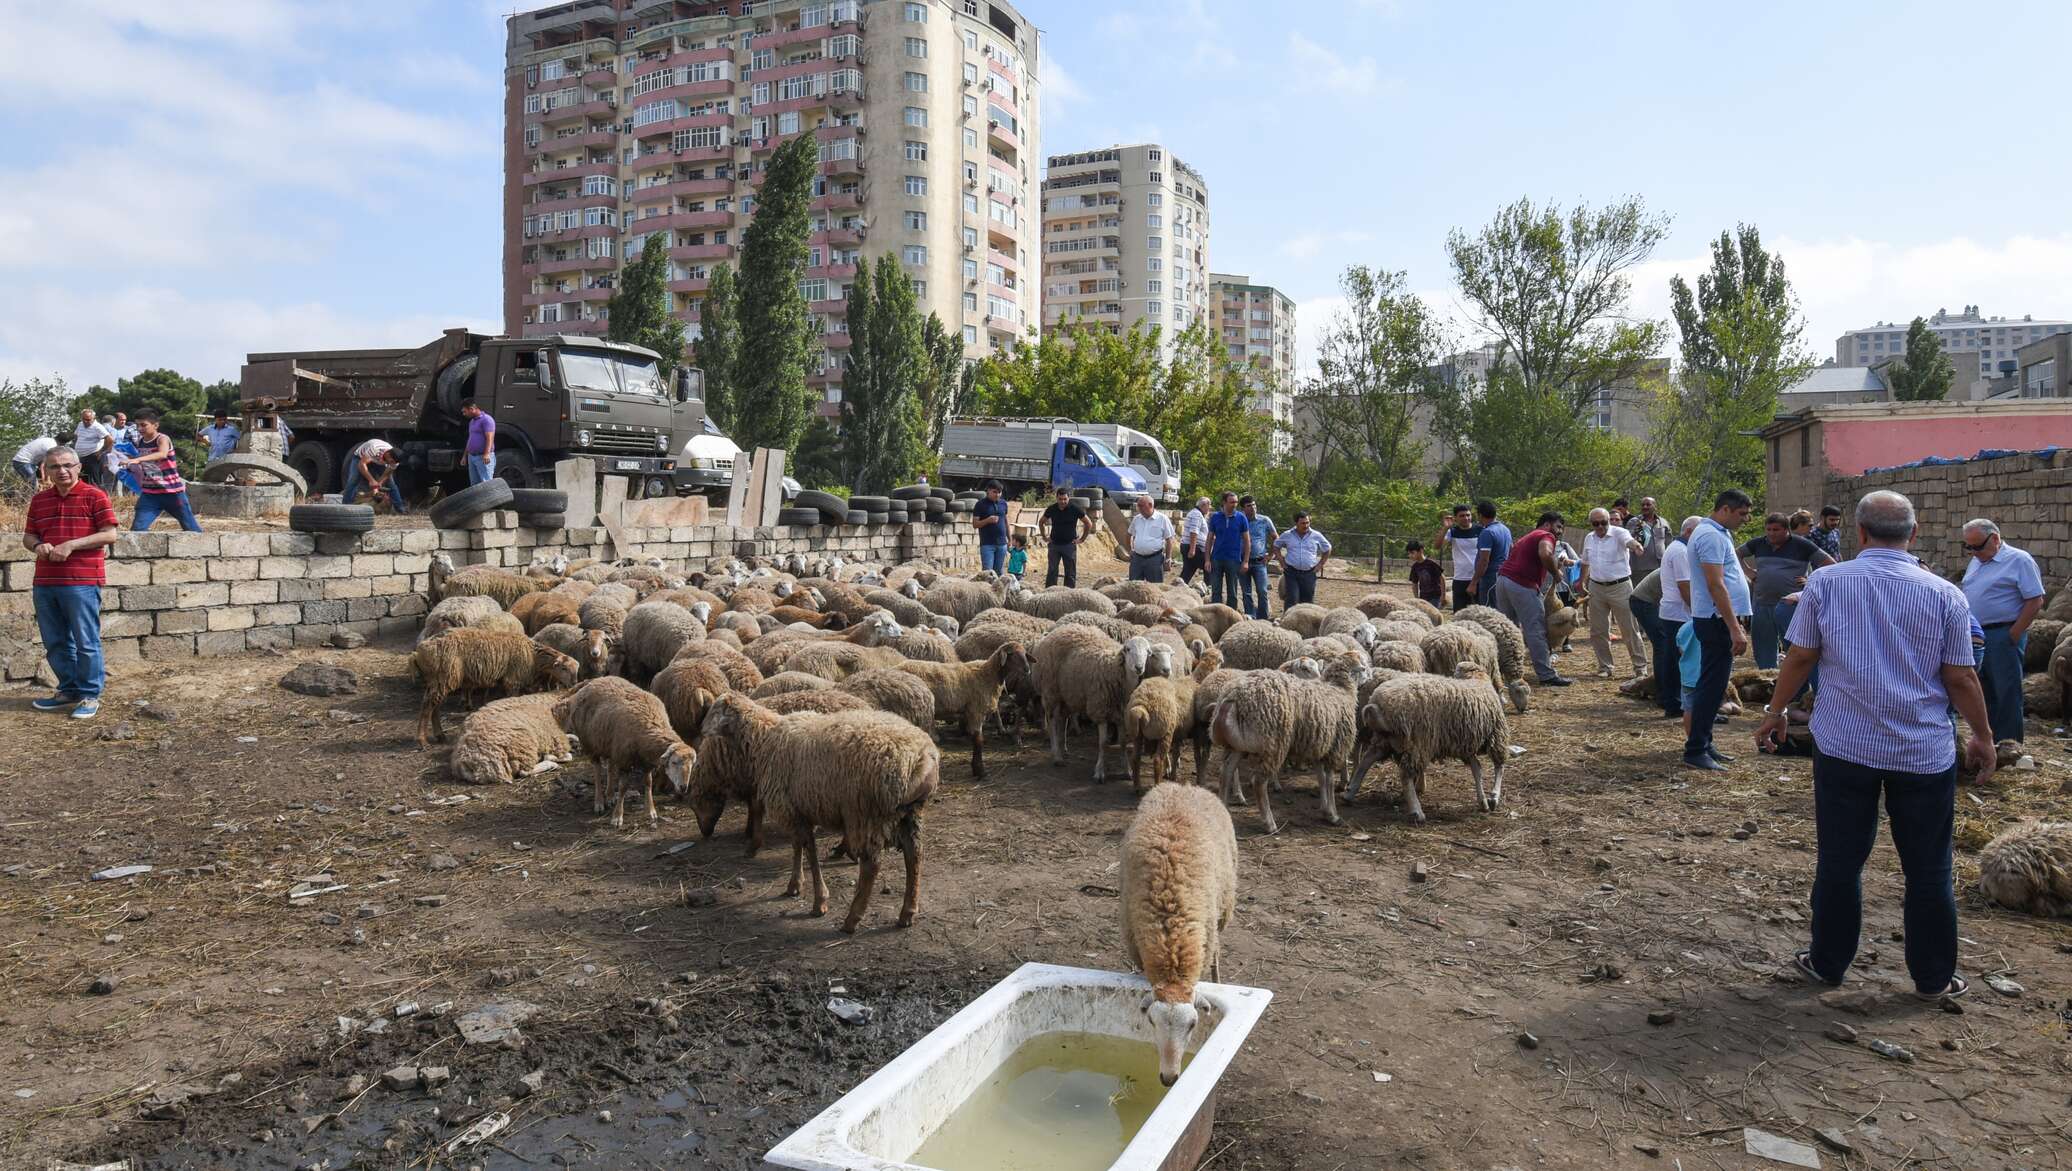
M1670 278L1670 313L1682 336L1682 369L1658 398L1660 439L1670 454L1664 512L1707 512L1724 487L1763 479L1755 429L1778 412L1778 396L1813 369L1801 346L1805 319L1784 278L1784 261L1763 251L1753 224L1720 232L1711 272L1697 292Z

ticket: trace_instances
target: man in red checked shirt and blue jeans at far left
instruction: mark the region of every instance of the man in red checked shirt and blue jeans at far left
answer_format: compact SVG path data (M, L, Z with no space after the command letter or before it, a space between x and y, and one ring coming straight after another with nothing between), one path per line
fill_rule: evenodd
M108 493L81 483L79 454L70 448L44 456L44 477L50 487L29 497L21 545L35 553L35 626L58 692L29 707L73 709L73 719L93 719L108 680L102 587L108 584L108 545L116 543L116 510Z

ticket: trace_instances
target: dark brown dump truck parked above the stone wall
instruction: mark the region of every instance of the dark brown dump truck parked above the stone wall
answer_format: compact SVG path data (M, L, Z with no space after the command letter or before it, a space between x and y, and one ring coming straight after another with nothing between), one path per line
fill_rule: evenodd
M553 464L588 456L626 477L628 495L673 495L678 454L704 431L704 375L663 379L655 350L555 334L491 338L445 330L412 350L296 350L249 354L247 415L278 410L294 435L286 462L311 493L338 491L346 458L381 437L416 493L466 485L464 400L497 421L497 477L551 487Z

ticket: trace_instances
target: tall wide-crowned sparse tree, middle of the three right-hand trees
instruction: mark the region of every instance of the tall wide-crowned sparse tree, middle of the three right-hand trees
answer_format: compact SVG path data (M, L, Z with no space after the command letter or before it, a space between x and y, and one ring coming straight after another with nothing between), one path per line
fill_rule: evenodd
M1452 419L1477 491L1533 495L1575 483L1598 394L1637 385L1662 348L1660 321L1629 313L1631 274L1668 234L1639 199L1569 211L1531 199L1446 236L1473 323L1502 361Z

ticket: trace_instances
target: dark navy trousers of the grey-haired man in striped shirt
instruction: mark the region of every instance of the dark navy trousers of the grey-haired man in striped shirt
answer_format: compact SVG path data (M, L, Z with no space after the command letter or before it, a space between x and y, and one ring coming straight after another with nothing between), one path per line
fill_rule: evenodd
M1950 827L1956 769L1896 773L1838 756L1813 761L1813 970L1840 980L1863 933L1863 864L1877 841L1877 796L1892 819L1892 850L1906 875L1906 974L1915 991L1939 993L1956 974L1956 893Z

